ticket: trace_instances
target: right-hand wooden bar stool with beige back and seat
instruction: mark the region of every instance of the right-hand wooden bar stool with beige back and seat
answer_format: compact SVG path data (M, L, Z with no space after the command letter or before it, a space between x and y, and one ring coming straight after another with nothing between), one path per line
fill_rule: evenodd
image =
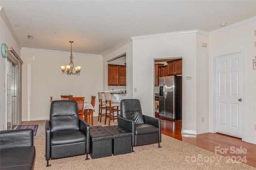
M120 114L118 113L120 111L120 103L119 102L111 102L111 94L108 92L104 93L105 95L105 100L106 100L106 114L105 114L105 124L106 120L108 119L108 126L110 126L110 120L117 119ZM109 109L108 109L109 108ZM109 113L108 113L109 110ZM114 112L117 112L116 116L114 115Z

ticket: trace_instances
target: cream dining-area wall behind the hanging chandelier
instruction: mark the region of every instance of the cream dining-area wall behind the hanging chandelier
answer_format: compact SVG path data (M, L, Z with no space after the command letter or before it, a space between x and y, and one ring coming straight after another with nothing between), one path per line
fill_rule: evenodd
M44 120L50 114L50 96L72 93L90 102L96 96L94 116L98 115L98 95L102 91L102 56L73 52L74 66L82 66L80 76L62 75L60 65L70 62L70 52L22 49L22 121ZM31 67L31 71L29 68Z

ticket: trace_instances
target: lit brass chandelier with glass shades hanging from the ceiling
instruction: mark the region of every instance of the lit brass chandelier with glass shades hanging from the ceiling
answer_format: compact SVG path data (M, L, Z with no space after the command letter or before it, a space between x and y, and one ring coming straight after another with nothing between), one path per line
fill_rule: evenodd
M73 73L73 68L74 68L74 63L73 63L74 56L72 54L72 43L73 43L73 41L69 41L69 42L71 44L71 50L70 50L70 56L69 56L70 62L66 66L60 66L60 68L62 70L62 75L64 75L64 73L65 73L67 75L77 75L78 76L78 75L80 75L81 66L76 66L75 67L76 72Z

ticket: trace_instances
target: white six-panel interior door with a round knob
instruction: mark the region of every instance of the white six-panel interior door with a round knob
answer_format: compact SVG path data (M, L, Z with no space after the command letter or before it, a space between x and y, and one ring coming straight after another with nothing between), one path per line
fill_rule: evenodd
M216 132L242 138L242 54L215 61Z

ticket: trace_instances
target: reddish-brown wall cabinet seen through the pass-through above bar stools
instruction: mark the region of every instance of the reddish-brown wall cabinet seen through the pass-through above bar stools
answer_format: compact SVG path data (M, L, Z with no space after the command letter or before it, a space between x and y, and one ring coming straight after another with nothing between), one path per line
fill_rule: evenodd
M108 86L126 86L126 66L108 64Z

